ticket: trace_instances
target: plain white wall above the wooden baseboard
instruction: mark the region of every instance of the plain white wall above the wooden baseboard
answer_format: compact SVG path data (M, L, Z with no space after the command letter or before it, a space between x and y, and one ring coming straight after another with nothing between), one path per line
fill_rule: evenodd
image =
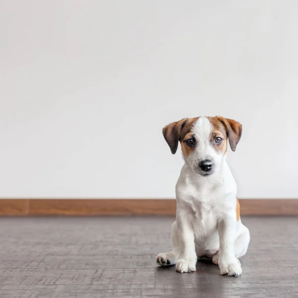
M245 2L245 3L244 3ZM0 1L0 197L171 198L161 129L243 124L242 198L298 198L298 1Z

